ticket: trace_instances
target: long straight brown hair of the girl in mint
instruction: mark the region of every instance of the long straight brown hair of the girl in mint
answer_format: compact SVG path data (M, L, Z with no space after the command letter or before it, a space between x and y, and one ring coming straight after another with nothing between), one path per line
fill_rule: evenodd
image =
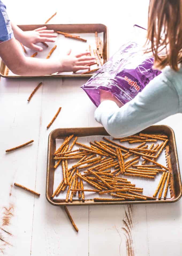
M147 43L154 67L179 69L182 62L182 0L150 0Z

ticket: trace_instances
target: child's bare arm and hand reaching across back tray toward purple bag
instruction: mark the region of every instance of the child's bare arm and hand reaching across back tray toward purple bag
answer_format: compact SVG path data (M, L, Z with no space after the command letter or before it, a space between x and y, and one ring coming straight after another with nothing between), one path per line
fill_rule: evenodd
M55 72L75 72L79 69L88 69L85 65L94 62L93 57L84 56L88 54L89 52L76 56L67 55L57 60L38 59L24 56L15 38L0 44L0 56L7 67L12 70L14 74L22 76L41 76Z

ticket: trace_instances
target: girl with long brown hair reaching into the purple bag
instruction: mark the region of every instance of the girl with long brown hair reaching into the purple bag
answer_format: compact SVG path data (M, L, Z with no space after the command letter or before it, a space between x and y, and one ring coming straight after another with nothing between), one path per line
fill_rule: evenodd
M154 67L162 73L121 107L106 91L95 119L114 137L126 137L176 113L182 113L182 0L150 0L147 40ZM160 49L166 49L160 55Z

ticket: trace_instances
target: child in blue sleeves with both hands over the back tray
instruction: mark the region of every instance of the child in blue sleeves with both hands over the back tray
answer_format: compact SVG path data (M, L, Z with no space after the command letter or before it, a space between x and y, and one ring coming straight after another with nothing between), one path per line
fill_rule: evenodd
M83 52L76 56L67 55L62 59L59 57L57 60L25 57L19 42L35 51L42 51L43 48L36 43L55 42L53 38L57 35L53 33L54 30L46 30L46 26L33 31L22 31L10 22L6 6L0 0L0 56L14 74L40 76L63 71L75 72L79 69L88 69L88 66L85 65L94 62L94 57L86 56L89 52Z

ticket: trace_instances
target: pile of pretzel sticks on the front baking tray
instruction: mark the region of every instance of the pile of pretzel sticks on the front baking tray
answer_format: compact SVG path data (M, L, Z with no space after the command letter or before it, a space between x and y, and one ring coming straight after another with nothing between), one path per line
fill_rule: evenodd
M69 146L72 138L73 142ZM170 170L157 162L168 144L166 135L139 133L113 140L103 137L100 141L90 141L90 146L79 143L77 139L78 137L74 137L73 134L66 137L54 153L54 159L57 161L54 168L62 166L63 180L52 194L52 198L56 199L60 193L67 191L65 202L72 202L74 198L84 202L84 192L98 193L99 196L94 197L94 201L156 200L157 194L160 200L164 187L164 198L166 198ZM115 140L140 144L129 148L116 143ZM161 143L157 143L158 141ZM148 142L152 144L149 146ZM78 148L72 150L74 145ZM127 160L129 157L131 159ZM73 159L78 159L78 162L68 168L68 161ZM141 165L139 159L143 160ZM111 171L111 168L114 170ZM153 195L143 195L143 188L137 187L127 179L128 176L141 177L146 182L150 182L160 174L162 174L161 179ZM84 189L86 184L91 185L93 189ZM109 194L109 197L102 198L103 194Z

